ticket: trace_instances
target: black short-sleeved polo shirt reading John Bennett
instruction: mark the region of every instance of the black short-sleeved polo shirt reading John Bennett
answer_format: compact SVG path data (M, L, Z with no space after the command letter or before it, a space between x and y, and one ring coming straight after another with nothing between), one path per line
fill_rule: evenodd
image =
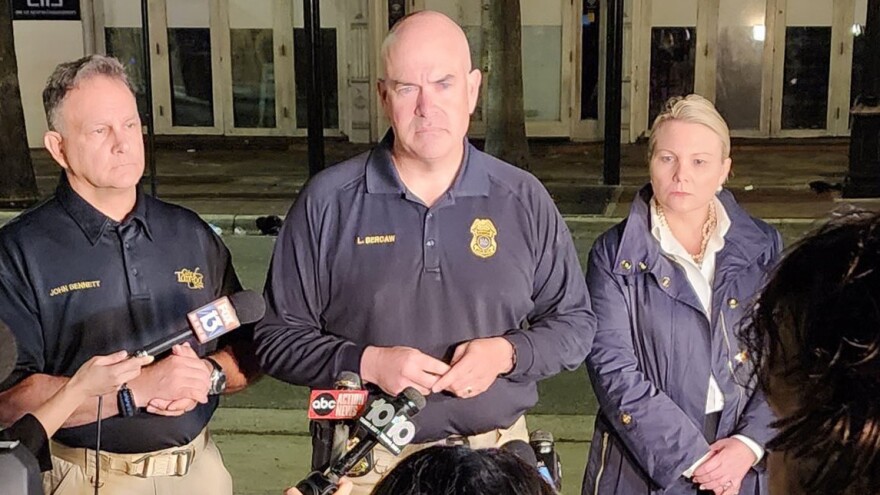
M134 211L115 222L62 178L55 196L0 229L0 320L18 341L18 363L0 389L34 373L72 376L95 355L140 349L187 328L188 311L238 290L229 251L195 213L138 189ZM216 347L196 350L205 355ZM211 397L174 418L106 419L102 449L137 453L186 444L217 402ZM54 438L94 447L95 433L91 423Z

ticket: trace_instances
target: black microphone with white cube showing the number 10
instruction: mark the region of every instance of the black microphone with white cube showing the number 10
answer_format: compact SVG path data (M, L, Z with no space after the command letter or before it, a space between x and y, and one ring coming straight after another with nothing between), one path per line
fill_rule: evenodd
M358 419L363 435L358 442L322 473L313 471L296 488L303 495L330 495L336 491L339 478L343 477L360 460L382 444L394 455L400 455L416 434L416 427L409 420L425 407L425 397L416 389L407 387L397 397L380 396L370 402L367 411Z

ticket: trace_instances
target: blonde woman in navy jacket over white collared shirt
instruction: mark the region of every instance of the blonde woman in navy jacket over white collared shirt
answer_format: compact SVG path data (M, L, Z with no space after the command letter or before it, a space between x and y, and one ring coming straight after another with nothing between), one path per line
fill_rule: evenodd
M768 492L773 416L737 329L781 239L723 189L729 153L708 100L670 100L653 125L651 183L590 253L600 411L584 494Z

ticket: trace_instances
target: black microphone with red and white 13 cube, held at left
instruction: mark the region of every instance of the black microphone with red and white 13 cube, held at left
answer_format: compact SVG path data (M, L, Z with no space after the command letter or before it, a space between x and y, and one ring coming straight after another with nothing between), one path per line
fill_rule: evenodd
M210 342L242 324L255 323L266 314L263 296L251 290L236 292L187 313L189 326L171 337L164 337L133 353L134 356L157 356L192 337L199 343Z

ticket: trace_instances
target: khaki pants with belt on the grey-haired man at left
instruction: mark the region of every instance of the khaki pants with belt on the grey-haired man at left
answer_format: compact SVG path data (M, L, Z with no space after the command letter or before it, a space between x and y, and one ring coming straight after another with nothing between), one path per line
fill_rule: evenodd
M232 495L232 477L207 429L181 447L146 454L102 451L102 495ZM46 495L91 495L95 451L52 442L52 470L43 473Z

